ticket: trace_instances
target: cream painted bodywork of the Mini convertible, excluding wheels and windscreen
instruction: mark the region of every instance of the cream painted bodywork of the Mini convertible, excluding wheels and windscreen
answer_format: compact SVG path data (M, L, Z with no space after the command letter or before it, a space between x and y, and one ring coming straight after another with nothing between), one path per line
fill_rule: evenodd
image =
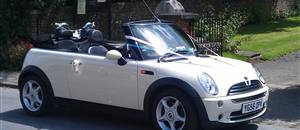
M76 65L72 61L76 60ZM250 120L230 121L229 114L241 109L241 103L231 100L250 97L265 92L263 102L268 100L268 87L235 96L227 96L229 88L236 83L249 80L259 80L252 65L218 56L195 57L189 60L173 62L157 62L157 60L133 61L128 60L124 66L116 60L106 57L92 56L71 52L59 52L44 49L31 49L26 56L23 68L38 66L48 76L57 97L77 99L118 107L143 110L144 98L149 86L156 80L172 77L187 82L200 95L207 110L210 121L235 123ZM142 75L140 71L150 70L152 75ZM218 86L219 93L211 95L200 86L197 76L205 72L209 74ZM217 102L223 101L224 106L218 107ZM218 116L223 114L222 120Z

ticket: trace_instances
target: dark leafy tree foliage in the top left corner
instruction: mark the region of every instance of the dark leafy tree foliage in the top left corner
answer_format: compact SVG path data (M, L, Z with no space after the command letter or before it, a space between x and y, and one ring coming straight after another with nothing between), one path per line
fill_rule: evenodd
M30 11L47 16L67 0L0 0L0 46L29 37Z

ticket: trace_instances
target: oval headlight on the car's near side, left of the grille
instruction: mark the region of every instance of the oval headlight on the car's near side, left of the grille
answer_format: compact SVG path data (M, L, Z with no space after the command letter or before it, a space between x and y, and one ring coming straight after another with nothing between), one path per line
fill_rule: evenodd
M201 73L198 75L198 80L200 85L204 88L204 90L211 94L217 95L218 94L218 87L215 81L206 73Z

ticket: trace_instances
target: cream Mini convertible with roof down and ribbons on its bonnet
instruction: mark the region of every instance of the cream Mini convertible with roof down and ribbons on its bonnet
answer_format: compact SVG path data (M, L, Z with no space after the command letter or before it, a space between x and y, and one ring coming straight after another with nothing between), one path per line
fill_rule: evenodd
M33 48L19 78L30 115L63 98L134 109L157 129L194 130L248 122L267 109L268 87L252 64L201 54L191 37L167 21L123 25L125 43L64 39Z

